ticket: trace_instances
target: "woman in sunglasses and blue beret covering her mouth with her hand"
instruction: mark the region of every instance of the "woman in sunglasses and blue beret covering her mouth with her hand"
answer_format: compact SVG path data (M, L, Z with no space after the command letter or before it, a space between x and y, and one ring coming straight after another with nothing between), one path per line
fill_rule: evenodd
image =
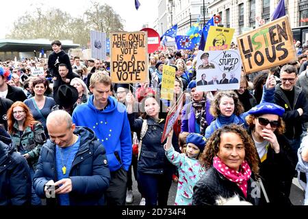
M275 205L292 205L289 195L296 165L290 144L283 136L284 112L274 103L261 103L246 117L259 155L260 177L269 202Z

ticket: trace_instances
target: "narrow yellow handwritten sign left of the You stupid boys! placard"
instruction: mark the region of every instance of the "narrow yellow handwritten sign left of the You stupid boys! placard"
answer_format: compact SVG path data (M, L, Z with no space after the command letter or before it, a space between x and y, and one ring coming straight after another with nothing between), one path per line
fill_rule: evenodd
M173 89L175 88L175 68L163 66L161 99L173 100Z

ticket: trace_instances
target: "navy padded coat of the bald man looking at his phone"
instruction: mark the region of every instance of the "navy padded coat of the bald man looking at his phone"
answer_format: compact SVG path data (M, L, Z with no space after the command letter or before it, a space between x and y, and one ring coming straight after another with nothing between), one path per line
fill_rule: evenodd
M75 155L69 172L73 190L69 192L70 205L103 205L104 192L109 187L110 170L104 147L97 141L94 132L87 127L76 127L75 134L81 136L79 151ZM55 144L50 140L42 146L38 170L34 175L36 194L45 198L44 185L53 179L55 172ZM57 199L47 198L47 205Z

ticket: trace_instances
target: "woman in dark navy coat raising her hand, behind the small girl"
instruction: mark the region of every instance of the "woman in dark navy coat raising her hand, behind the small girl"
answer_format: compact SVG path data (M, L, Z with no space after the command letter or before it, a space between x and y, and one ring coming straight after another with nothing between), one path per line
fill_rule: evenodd
M142 123L147 122L147 129L142 138L142 146L139 151L137 167L137 181L141 193L146 200L146 205L167 205L168 194L172 183L173 166L167 159L164 151L166 140L161 143L164 126L166 123L167 109L154 96L146 96L142 100L142 118L136 118L132 110L133 96L127 94L127 112L131 131L139 133ZM179 144L175 134L172 137L172 145L179 151Z

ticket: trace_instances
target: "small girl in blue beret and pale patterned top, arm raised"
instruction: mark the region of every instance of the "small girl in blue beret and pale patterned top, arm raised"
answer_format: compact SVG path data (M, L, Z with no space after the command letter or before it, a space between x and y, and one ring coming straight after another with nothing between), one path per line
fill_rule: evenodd
M173 131L169 133L164 149L169 162L179 170L175 205L192 205L192 188L205 173L205 168L200 164L198 157L205 148L206 140L198 133L190 133L186 138L186 148L183 153L178 153L171 144L172 134Z

